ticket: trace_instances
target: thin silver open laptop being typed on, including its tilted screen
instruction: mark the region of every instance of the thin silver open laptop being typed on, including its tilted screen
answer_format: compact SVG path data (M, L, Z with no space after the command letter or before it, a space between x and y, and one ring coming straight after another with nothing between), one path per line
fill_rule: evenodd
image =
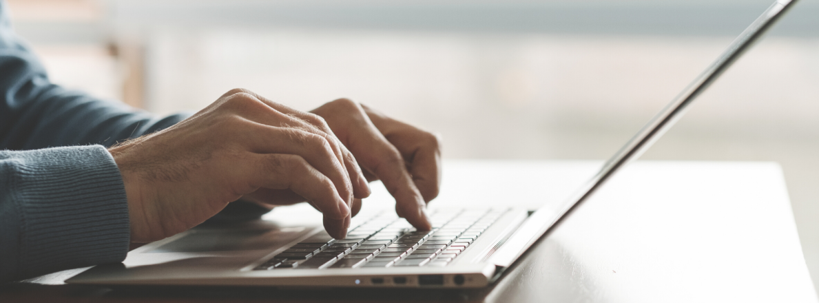
M394 212L357 216L345 239L321 226L282 227L264 219L203 225L130 251L66 283L275 287L485 287L527 249L635 160L687 106L796 1L778 0L678 97L636 133L599 173L561 204L519 208L431 209L431 231Z

